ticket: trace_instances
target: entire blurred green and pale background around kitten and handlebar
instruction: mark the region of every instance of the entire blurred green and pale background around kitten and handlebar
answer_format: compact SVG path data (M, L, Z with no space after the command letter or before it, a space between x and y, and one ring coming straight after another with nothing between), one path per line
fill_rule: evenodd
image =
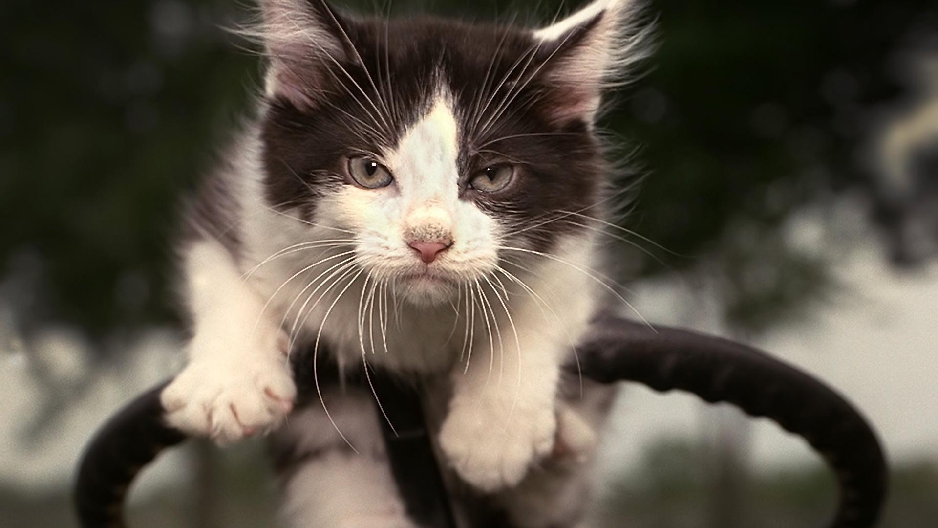
M658 53L602 123L644 177L619 219L643 238L611 240L621 278L649 318L763 345L839 386L881 427L896 461L883 525L934 526L938 7L647 4ZM576 5L396 0L390 10L549 20ZM179 365L171 235L182 197L258 89L256 57L223 30L249 8L5 2L5 526L71 525L68 484L82 444ZM664 424L661 413L643 414L651 398L691 423L649 427ZM782 527L829 514L830 476L804 453L771 447L794 441L672 398L639 392L620 406L628 417L615 427L643 433L607 442L601 522ZM134 495L138 525L272 525L275 489L258 445L197 445L158 466Z

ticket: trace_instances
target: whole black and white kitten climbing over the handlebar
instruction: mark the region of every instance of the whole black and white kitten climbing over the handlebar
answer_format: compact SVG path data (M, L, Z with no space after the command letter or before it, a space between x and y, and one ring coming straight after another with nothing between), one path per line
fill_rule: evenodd
M297 400L290 356L327 349L341 371L423 380L453 479L515 524L575 525L609 395L561 366L608 288L594 120L636 58L634 4L532 30L262 0L259 116L182 247L193 336L169 422L219 442L276 429L295 526L413 526L371 391Z

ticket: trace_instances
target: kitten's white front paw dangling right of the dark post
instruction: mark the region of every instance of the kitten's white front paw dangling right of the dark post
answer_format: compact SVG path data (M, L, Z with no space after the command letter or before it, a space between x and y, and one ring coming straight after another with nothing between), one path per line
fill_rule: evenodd
M463 480L483 491L521 482L531 465L553 448L553 409L523 410L508 416L482 405L450 410L440 431L440 448Z

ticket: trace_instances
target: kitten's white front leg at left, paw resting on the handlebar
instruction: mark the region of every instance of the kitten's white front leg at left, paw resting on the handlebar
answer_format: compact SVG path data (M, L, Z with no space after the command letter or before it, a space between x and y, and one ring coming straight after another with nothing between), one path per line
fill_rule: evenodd
M280 325L219 241L195 241L185 265L194 332L189 365L161 395L167 421L219 442L276 426L296 393Z

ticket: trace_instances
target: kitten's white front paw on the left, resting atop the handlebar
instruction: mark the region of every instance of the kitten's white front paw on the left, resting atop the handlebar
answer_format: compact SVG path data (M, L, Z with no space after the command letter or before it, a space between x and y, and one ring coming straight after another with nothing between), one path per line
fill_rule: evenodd
M296 387L286 358L196 360L160 397L170 426L233 443L278 426Z

